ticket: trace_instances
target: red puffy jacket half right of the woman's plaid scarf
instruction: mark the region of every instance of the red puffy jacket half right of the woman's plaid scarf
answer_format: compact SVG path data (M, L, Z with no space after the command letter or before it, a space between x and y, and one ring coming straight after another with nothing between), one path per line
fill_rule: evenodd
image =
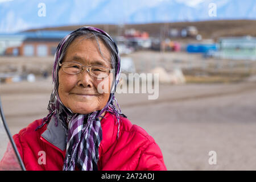
M100 166L104 170L164 170L162 152L147 131L125 117L118 123L114 115L106 115L102 123Z

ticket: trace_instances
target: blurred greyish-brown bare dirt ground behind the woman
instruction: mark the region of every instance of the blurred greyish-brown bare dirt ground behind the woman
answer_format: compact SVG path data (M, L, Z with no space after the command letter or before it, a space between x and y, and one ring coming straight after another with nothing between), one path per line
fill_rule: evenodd
M12 134L46 116L51 89L50 79L0 85ZM147 96L117 100L159 144L168 170L256 170L256 82L160 85L157 100Z

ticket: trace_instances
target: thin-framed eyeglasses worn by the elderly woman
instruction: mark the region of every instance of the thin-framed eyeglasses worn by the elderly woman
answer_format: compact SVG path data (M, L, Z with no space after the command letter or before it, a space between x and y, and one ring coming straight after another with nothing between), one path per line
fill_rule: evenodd
M59 65L65 73L71 75L77 75L81 73L84 70L84 68L86 68L86 71L89 73L90 76L100 79L108 77L109 73L111 72L109 68L105 68L98 65L92 65L88 67L76 62L65 62L62 64L59 63Z

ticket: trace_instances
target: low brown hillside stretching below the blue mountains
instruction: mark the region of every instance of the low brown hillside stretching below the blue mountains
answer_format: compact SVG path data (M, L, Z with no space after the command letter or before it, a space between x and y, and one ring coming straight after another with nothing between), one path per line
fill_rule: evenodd
M47 27L36 30L76 30L79 27L88 26L80 24L77 26L63 26L63 27ZM221 36L256 36L256 20L212 20L202 22L176 22L176 23L148 23L148 24L125 24L118 26L115 24L90 24L101 28L110 33L110 35L121 35L122 31L127 28L135 28L136 30L147 31L150 36L159 37L160 31L166 31L168 28L184 28L186 26L195 26L199 30L199 34L204 39L217 39Z

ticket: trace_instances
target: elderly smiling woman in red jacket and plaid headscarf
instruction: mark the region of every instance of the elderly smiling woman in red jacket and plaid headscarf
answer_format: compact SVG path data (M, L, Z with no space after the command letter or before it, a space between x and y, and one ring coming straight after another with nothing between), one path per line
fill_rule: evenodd
M27 170L166 170L154 139L122 114L119 76L106 32L82 27L61 40L49 114L13 137Z

